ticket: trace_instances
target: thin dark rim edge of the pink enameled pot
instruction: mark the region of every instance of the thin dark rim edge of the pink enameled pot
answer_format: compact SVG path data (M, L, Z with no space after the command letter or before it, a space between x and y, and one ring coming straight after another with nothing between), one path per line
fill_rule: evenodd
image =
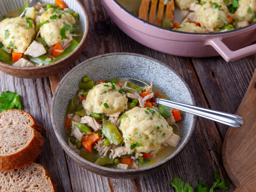
M256 25L256 22L254 23L251 23L245 27L241 27L241 28L238 28L238 29L233 29L233 30L230 30L230 31L224 31L224 32L216 32L216 33L190 33L190 32L183 32L183 31L176 31L176 30L172 30L172 29L167 29L167 28L164 28L164 27L161 27L161 26L158 26L158 25L155 25L153 23L150 23L134 14L132 14L130 11L128 11L125 7L123 7L120 3L118 3L116 0L113 0L113 2L122 8L122 10L124 10L127 14L129 14L130 16L134 17L135 19L138 19L140 20L141 22L145 23L145 24L148 24L148 25L151 25L153 27L156 27L156 28L159 28L161 30L167 30L167 31L170 31L170 32L174 32L174 33L179 33L179 34L187 34L187 35L220 35L220 34L230 34L230 33L235 33L237 31L240 31L240 30L243 30L243 29L246 29L246 28L249 28L249 27L252 27L254 25ZM136 29L137 30L137 29Z

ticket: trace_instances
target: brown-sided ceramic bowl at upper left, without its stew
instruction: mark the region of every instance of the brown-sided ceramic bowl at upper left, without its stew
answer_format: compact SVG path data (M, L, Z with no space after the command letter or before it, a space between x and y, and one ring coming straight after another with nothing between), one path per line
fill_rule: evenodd
M20 8L26 0L2 0L0 5L0 17L8 13L13 9ZM54 0L40 0L42 4L54 3ZM82 39L79 45L66 57L48 65L38 66L38 67L15 67L8 65L0 61L0 70L21 78L41 78L47 77L52 74L58 73L59 71L70 66L81 54L88 37L89 21L87 13L83 5L78 0L64 0L67 6L73 9L79 14L79 21L82 28Z

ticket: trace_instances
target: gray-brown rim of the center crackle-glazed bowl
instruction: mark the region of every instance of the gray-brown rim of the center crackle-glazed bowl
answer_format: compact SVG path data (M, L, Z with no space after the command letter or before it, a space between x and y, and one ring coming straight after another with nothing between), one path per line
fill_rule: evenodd
M108 168L108 167L103 167L103 166L100 166L100 165L96 165L84 158L82 158L81 156L79 156L77 153L75 153L67 144L67 142L62 138L62 136L60 134L58 134L58 128L55 124L55 117L54 117L54 105L55 105L55 100L56 100L56 95L57 95L57 92L59 91L60 87L62 86L63 82L65 81L65 79L73 72L75 71L76 69L78 69L79 67L81 67L82 65L86 65L88 62L92 61L92 60L96 60L96 59L99 59L99 58L103 58L103 57L108 57L108 56L114 56L114 55L130 55L130 56L136 56L136 57L143 57L143 58L146 58L146 59L150 59L150 60L153 60L155 62L158 62L160 63L161 65L163 65L164 67L168 68L169 70L171 70L172 72L174 72L181 80L182 82L185 84L186 88L188 89L189 91L189 94L191 96L191 99L192 99L192 102L193 102L193 105L195 105L195 99L194 99L194 96L190 90L190 88L188 87L187 83L185 82L185 80L175 71L173 70L171 67L167 66L166 64L164 64L163 62L157 60L157 59L154 59L152 57L148 57L148 56L145 56L145 55L141 55L141 54L136 54L136 53L127 53L127 52L115 52L115 53L108 53L108 54L103 54L103 55L98 55L98 56L95 56L95 57L92 57L90 59L87 59L81 63L79 63L77 66L75 66L74 68L72 68L60 81L60 83L58 84L58 86L56 87L56 90L54 91L54 95L52 96L52 101L51 101L51 110L50 110L50 115L51 115L51 123L52 123L52 126L53 126L53 129L54 129L54 132L55 132L55 135L60 143L60 145L62 146L62 148L65 150L65 152L67 152L67 154L73 159L73 158L76 158L76 160L74 160L75 162L81 162L81 163L84 163L88 166L91 166L91 167L94 167L96 169L101 169L101 170L104 170L104 171L109 171L109 172L114 172L114 173L141 173L143 171L146 171L146 170L149 170L149 169L154 169L154 168L158 168L158 167L161 167L162 165L165 165L165 164L170 164L183 150L184 150L184 147L187 145L188 141L190 140L191 138L191 135L193 134L193 131L195 129L195 125L196 125L196 115L193 115L193 122L191 124L191 129L190 131L188 132L188 135L187 137L185 138L183 144L178 148L178 150L176 150L172 155L170 155L169 157L167 157L166 159L164 159L163 161L159 162L159 163L156 163L154 165L150 165L148 167L143 167L143 168L138 168L138 169L111 169L111 168ZM78 163L79 164L79 163ZM80 165L80 164L79 164Z

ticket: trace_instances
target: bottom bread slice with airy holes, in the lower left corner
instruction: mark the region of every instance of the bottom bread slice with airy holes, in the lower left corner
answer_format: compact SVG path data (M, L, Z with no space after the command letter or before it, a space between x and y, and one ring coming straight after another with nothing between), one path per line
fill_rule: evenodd
M1 192L58 192L56 182L44 166L30 163L10 171L0 171Z

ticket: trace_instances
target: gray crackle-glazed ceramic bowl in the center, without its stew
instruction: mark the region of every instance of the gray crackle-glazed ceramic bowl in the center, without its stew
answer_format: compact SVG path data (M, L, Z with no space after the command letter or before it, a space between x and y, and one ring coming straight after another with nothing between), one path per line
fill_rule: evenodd
M150 74L144 69L151 69ZM194 131L196 118L182 113L181 140L176 151L164 161L139 169L111 169L96 165L76 154L66 142L64 133L65 110L69 99L76 94L78 85L84 76L92 80L113 77L130 77L147 82L163 90L173 101L195 105L194 97L185 81L164 63L143 55L133 53L111 53L88 59L71 69L59 83L51 103L51 122L57 139L66 153L83 168L105 177L132 179L150 175L168 166L182 152Z

